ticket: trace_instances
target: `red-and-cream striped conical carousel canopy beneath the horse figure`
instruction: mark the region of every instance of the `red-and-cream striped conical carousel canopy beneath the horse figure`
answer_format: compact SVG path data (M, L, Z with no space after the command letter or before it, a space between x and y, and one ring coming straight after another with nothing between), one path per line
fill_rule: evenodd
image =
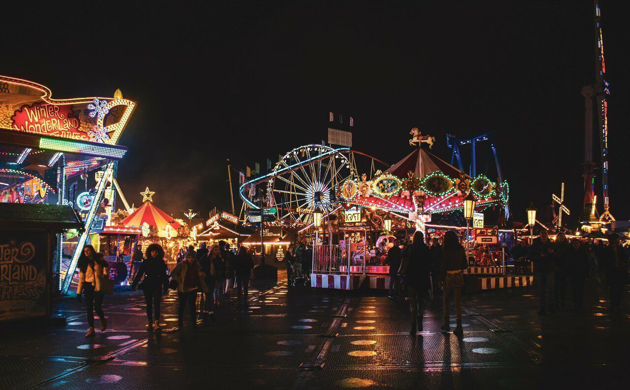
M413 177L418 177L419 179L436 171L441 171L455 179L459 177L460 172L453 165L423 148L416 148L407 157L392 165L385 172L403 178L407 177L407 173L410 171L413 172ZM466 177L470 178L468 175Z

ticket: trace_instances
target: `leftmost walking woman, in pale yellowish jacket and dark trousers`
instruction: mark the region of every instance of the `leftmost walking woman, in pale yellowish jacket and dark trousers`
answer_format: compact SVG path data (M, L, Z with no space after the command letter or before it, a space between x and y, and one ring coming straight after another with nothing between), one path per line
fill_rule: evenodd
M101 319L101 332L107 328L107 320L101 306L105 294L101 292L101 278L109 277L109 265L103 260L101 253L96 253L92 245L83 247L83 253L77 262L79 268L79 286L77 287L77 301L81 302L81 294L85 292L85 306L88 311L88 333L85 337L93 337L94 312Z

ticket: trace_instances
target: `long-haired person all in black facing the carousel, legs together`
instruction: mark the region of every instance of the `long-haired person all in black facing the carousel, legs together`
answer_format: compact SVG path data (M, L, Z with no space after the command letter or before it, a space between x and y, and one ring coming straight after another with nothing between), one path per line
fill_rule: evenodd
M409 245L406 265L401 269L407 286L409 303L411 306L411 330L422 332L422 316L424 313L425 294L429 288L431 274L431 253L425 244L425 237L421 231L413 235L413 242Z

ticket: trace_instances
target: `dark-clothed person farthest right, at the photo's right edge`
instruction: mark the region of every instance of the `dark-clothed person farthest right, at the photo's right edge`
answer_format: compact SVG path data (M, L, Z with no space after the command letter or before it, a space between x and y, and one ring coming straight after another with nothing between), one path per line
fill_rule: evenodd
M619 244L619 235L612 233L608 247L602 250L606 270L606 285L610 290L610 310L621 311L621 298L627 282L628 254Z

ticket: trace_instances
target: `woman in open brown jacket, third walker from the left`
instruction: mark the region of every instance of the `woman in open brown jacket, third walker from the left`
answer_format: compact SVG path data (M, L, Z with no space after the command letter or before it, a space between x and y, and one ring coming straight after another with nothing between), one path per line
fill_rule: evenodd
M175 269L171 272L171 277L175 279L177 284L177 295L180 299L180 307L178 308L178 326L180 330L184 327L184 311L186 306L190 306L191 326L197 328L197 292L202 291L208 294L208 287L203 281L205 274L195 260L195 251L186 253L186 261L175 265Z

